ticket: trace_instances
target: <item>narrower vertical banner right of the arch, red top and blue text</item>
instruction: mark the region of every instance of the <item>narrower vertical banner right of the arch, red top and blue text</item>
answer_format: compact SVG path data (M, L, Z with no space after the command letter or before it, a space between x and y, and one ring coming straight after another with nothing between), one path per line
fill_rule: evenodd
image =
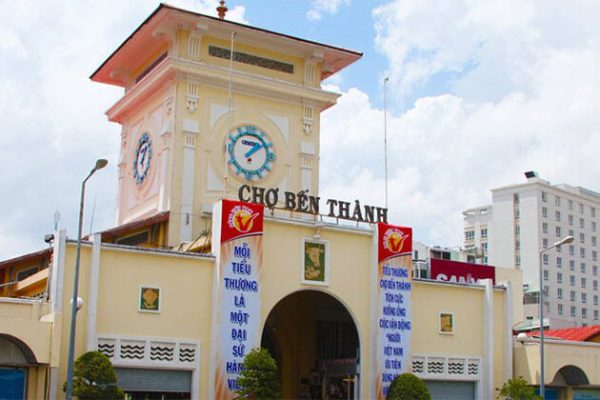
M412 229L377 224L376 395L410 371Z

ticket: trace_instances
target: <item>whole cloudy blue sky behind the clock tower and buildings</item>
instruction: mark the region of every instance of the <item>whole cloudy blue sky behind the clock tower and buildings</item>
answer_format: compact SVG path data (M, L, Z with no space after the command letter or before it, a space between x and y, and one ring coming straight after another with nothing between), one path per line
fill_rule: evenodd
M169 4L215 15L217 0ZM598 1L229 0L227 18L361 51L323 82L320 196L384 205L431 245L462 243L462 211L537 171L600 191ZM150 0L0 0L0 260L59 226L115 224L122 89L91 73L158 6ZM276 6L274 6L276 5Z

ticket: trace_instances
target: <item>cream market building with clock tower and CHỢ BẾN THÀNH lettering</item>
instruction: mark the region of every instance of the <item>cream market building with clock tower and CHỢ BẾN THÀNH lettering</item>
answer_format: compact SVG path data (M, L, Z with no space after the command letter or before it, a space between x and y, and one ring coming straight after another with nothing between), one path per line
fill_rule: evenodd
M495 398L520 271L413 278L411 228L318 198L338 97L320 83L360 56L161 5L93 73L124 88L123 129L117 226L81 247L77 356L107 355L134 399L233 398L257 346L284 398L381 398L403 371ZM0 397L64 396L77 245L48 240L0 262Z

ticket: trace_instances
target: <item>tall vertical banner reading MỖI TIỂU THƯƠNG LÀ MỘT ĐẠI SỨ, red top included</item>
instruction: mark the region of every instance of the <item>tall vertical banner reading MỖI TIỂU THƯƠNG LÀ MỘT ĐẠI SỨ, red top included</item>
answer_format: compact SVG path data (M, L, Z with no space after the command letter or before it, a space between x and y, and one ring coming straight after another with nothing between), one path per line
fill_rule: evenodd
M263 215L260 204L231 200L222 200L213 210L217 296L212 398L236 397L244 356L260 345Z

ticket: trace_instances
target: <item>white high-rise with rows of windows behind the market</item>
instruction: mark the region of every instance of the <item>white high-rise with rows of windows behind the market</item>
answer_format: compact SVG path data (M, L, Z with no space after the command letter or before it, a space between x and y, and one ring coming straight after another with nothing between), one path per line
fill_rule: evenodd
M537 317L539 251L572 235L573 243L543 254L545 315L553 327L596 324L600 194L529 175L525 183L493 189L491 206L463 213L465 247L487 246L491 264L521 269L525 314Z

